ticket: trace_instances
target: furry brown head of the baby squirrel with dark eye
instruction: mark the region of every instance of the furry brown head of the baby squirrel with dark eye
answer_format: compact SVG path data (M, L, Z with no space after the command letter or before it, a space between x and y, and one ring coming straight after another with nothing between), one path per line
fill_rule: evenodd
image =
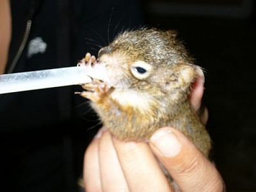
M98 55L114 88L140 92L188 95L191 83L202 69L177 38L176 31L141 28L116 36ZM181 94L180 94L181 93Z

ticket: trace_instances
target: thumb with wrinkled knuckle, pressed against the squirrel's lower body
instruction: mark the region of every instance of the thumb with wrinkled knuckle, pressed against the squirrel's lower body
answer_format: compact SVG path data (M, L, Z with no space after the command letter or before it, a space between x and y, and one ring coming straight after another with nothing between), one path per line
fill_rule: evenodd
M181 191L223 191L218 170L177 129L159 129L152 136L150 147Z

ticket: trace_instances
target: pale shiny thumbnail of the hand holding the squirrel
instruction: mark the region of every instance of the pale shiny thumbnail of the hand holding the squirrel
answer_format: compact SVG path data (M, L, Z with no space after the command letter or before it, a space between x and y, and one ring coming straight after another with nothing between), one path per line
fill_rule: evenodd
M180 152L181 143L171 129L157 131L150 141L164 157L173 157Z

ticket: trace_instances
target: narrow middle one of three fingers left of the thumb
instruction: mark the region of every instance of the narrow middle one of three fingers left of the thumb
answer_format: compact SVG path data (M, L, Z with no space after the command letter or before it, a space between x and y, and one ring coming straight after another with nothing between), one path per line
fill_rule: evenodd
M99 142L99 164L103 191L129 191L108 131L102 134Z

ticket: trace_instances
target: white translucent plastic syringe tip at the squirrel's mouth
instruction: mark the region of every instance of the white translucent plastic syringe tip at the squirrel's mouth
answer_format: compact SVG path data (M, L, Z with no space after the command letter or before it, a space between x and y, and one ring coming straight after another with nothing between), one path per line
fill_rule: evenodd
M79 66L3 74L0 76L0 94L90 83L91 69Z

